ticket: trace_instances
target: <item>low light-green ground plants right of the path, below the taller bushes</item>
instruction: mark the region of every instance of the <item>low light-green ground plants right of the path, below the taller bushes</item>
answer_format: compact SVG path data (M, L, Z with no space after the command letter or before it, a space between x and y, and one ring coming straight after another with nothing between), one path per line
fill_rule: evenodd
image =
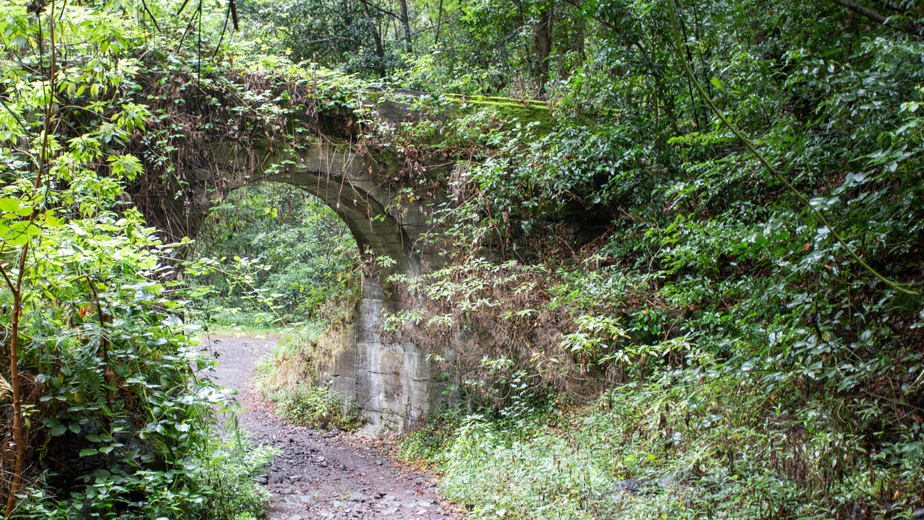
M764 401L733 378L665 378L584 406L435 417L398 453L479 518L919 516L918 430L870 455L817 409L754 415L755 390Z

